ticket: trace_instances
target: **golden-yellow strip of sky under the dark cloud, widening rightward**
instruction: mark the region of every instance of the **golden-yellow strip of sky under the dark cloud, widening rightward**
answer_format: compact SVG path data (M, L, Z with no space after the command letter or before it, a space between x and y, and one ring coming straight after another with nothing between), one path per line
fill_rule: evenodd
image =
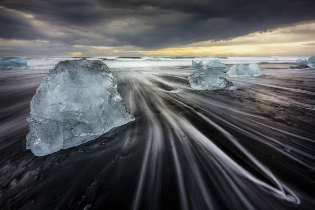
M264 56L264 55L313 55L315 54L315 22L254 32L231 40L201 41L179 47L145 50L134 46L98 47L89 54L103 55L169 55L169 56ZM88 47L88 46L76 46ZM106 51L106 52L105 52Z

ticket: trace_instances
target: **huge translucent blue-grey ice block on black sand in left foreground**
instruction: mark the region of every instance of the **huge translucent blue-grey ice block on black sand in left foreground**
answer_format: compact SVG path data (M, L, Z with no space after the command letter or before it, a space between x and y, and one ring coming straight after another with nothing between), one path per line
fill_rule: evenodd
M60 61L43 78L31 101L26 147L36 156L47 155L134 119L104 63Z

